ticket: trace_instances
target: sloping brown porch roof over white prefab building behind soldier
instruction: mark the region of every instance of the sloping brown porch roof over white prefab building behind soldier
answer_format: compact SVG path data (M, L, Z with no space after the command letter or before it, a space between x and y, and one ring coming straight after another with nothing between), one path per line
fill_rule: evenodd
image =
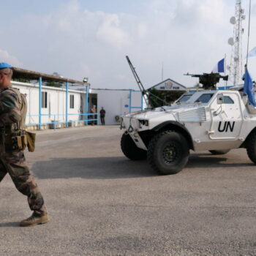
M35 72L27 69L20 69L19 67L13 67L13 79L28 79L28 80L38 80L42 78L43 81L51 82L68 82L84 85L83 81L73 80L69 78L62 78L56 75L48 75L41 72Z

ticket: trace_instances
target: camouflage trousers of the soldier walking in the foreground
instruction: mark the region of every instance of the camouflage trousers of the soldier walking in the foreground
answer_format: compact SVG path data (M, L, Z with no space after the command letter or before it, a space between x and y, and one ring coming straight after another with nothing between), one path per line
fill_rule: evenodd
M40 215L47 214L43 197L29 171L23 151L1 154L0 182L7 173L11 176L18 191L28 197L31 211Z

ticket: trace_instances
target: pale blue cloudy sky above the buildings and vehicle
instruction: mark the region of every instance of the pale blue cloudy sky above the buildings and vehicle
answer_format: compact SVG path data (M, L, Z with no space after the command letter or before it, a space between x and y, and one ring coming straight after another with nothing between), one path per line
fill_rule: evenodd
M145 88L163 78L194 86L185 73L211 72L227 56L236 0L8 0L1 2L0 62L75 80L92 88L138 89L125 56ZM246 56L249 0L245 9ZM256 46L252 1L249 49ZM249 59L256 80L256 57Z

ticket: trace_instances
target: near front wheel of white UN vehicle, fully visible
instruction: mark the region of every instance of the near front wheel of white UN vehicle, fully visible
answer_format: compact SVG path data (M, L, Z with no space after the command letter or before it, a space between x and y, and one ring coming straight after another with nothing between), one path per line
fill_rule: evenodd
M148 144L148 163L160 174L178 173L188 159L187 140L178 132L160 132Z

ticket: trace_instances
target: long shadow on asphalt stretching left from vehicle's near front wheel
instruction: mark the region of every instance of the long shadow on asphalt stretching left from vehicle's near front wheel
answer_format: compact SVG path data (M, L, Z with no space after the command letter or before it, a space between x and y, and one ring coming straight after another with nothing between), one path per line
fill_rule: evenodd
M31 170L38 178L136 178L157 176L146 161L125 157L51 159L36 162Z

